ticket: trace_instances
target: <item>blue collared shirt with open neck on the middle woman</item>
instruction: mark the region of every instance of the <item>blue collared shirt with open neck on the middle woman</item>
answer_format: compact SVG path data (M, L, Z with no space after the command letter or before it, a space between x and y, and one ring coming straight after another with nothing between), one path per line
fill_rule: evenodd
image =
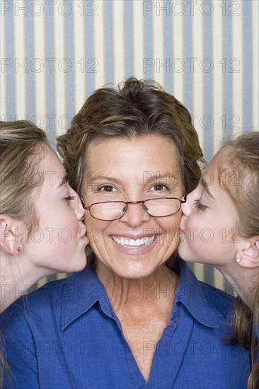
M178 262L170 325L156 345L143 346L143 352L156 347L149 384L88 265L19 299L2 315L13 389L246 388L248 353L223 339L231 333L233 298L197 281L185 262Z

